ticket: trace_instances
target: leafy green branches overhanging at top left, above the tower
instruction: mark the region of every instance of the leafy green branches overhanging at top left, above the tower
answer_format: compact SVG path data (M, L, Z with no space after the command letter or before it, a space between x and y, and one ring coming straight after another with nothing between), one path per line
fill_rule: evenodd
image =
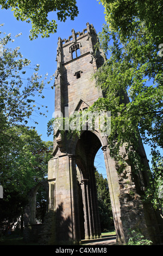
M49 34L57 32L57 22L55 20L49 21L48 14L52 11L57 12L58 20L66 21L67 17L74 17L78 15L78 8L76 0L40 0L40 1L0 1L2 9L11 9L14 11L16 20L26 21L32 23L29 38L33 40L42 34L42 38L49 37Z

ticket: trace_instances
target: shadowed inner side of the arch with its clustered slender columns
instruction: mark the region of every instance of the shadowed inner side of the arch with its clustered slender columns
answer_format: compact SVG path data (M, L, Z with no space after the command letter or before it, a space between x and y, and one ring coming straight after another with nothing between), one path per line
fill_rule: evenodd
M101 236L94 173L94 159L100 147L98 137L90 131L85 131L76 145L76 164L79 170L77 177L82 191L85 239Z

